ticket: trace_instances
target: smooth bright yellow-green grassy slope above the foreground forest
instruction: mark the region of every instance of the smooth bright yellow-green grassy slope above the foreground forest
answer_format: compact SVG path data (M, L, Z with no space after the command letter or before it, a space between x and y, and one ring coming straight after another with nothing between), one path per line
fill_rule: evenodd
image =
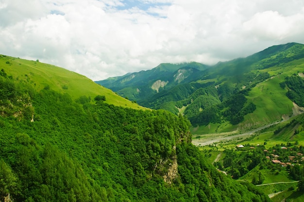
M10 64L7 64L7 62ZM0 55L0 69L2 68L8 75L12 75L19 81L23 80L33 84L36 90L49 85L52 90L68 93L73 99L84 95L90 96L92 99L97 95L104 95L106 102L109 104L143 109L136 103L118 96L113 91L94 83L85 76L61 67Z

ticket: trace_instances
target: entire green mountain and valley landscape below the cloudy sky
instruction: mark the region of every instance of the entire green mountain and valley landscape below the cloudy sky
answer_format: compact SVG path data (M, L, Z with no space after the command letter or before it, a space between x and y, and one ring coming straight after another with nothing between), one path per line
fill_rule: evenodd
M98 82L0 55L0 201L304 200L303 52Z

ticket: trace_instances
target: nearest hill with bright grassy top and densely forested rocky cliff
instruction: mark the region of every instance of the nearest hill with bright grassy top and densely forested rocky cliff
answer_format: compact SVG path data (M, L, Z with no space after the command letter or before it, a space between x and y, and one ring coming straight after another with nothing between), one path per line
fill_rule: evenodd
M0 55L0 201L269 202L216 170L183 116Z

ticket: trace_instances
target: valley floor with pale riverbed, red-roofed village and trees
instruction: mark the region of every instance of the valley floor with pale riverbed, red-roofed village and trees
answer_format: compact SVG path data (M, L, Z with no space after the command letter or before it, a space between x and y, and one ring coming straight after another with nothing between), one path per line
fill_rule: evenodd
M237 180L263 186L264 193L273 202L284 199L301 202L304 196L301 191L297 191L301 178L292 173L294 169L303 170L303 154L298 152L304 145L303 135L297 132L303 130L303 120L302 112L251 131L193 135L192 142L222 172ZM293 131L291 136L290 131ZM231 152L235 153L233 160L228 160ZM235 163L231 164L230 161ZM255 166L251 166L254 161Z

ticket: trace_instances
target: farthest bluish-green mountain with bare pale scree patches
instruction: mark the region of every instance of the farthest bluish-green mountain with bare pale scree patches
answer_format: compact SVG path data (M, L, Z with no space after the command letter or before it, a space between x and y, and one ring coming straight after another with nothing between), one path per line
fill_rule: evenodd
M177 84L189 83L198 77L198 72L208 66L200 63L160 64L159 66L124 76L97 81L122 97L132 101L146 100L152 95Z

